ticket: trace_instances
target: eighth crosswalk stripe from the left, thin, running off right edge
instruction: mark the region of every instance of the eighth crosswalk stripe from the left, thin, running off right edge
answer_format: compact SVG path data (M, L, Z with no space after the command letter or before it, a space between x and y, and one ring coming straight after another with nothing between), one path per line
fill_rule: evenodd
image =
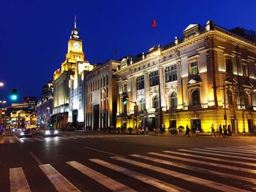
M176 155L184 155L184 156L189 156L189 157L194 157L194 158L203 158L203 159L208 159L208 160L211 160L211 161L222 161L222 162L227 162L227 163L232 163L232 164L256 166L256 164L249 163L249 162L233 161L233 160L227 160L227 159L223 159L223 158L206 157L206 156L203 156L203 155L194 155L194 154L181 153L181 152L176 152L176 151L168 151L167 153L172 153L172 154L176 154Z

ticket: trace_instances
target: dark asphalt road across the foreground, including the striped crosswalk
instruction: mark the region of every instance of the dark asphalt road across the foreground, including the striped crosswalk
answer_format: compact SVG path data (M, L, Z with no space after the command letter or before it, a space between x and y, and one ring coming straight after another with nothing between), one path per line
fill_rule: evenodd
M256 191L256 137L0 139L0 191Z

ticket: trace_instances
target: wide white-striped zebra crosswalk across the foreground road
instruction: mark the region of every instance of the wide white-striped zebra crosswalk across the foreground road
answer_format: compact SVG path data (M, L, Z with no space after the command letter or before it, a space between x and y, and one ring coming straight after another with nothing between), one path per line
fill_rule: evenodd
M78 182L87 177L105 191L142 191L142 183L150 191L256 191L256 145L113 155L83 162L67 161L61 167L74 169ZM56 191L94 191L89 183L70 181L69 174L58 168L39 165ZM122 176L115 177L116 174ZM33 191L23 167L10 168L10 191L18 188Z

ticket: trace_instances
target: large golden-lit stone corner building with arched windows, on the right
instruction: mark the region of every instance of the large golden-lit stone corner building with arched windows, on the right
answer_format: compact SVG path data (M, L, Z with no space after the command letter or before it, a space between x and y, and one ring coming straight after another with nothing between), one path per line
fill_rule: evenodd
M152 131L159 127L159 99L166 130L188 124L210 131L211 124L218 129L227 123L238 133L256 123L254 31L227 31L211 20L205 27L190 24L181 39L123 58L113 75L118 77L117 127L135 127L135 104L122 104L123 93L137 102L140 126Z

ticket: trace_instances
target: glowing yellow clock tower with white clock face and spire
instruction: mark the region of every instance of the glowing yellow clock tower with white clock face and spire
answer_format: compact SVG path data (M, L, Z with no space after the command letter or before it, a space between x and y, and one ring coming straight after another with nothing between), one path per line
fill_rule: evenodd
M67 54L65 61L61 64L61 72L69 71L70 69L74 69L75 63L77 61L84 61L85 54L83 53L83 44L82 39L80 39L79 31L76 26L71 31L71 36L69 37L69 41L67 43Z

